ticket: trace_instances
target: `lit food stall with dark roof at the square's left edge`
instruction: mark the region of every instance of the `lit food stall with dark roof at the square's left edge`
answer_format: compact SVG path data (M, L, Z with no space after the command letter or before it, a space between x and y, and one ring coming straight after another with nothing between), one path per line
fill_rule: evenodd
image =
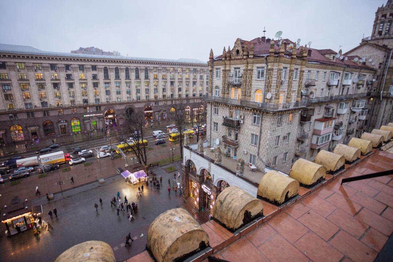
M37 216L42 213L42 206L31 206L30 200L20 201L15 197L11 201L11 205L4 207L2 210L2 223L6 225L8 236L18 233L16 226L18 225L20 231L39 226Z

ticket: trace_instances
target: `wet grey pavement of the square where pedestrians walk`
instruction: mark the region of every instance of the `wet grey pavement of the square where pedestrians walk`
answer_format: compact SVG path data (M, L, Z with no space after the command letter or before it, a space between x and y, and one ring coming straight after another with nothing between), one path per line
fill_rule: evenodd
M181 162L172 164L181 172ZM168 165L171 166L171 165ZM168 167L165 166L165 167ZM33 205L42 204L42 219L50 220L49 210L57 208L58 218L50 220L53 231L41 230L37 237L32 230L21 235L0 238L0 257L3 261L54 261L63 251L88 240L107 242L114 250L117 261L123 261L145 250L147 229L151 222L165 210L181 207L182 196L175 196L171 190L168 196L168 179L172 180L173 172L167 173L164 167L156 168L156 174L162 175L162 187L157 190L144 184L144 193L137 199L138 185L129 185L120 176L107 178L104 184L93 182L56 194L48 203L41 197L33 201ZM172 181L171 181L172 182ZM180 179L179 182L181 183ZM175 181L176 183L176 181ZM110 199L120 192L122 201L127 196L129 202L138 203L135 219L127 218L126 211L116 214L116 208L110 207ZM99 197L103 205L99 205ZM94 203L99 205L98 211ZM124 247L125 236L131 233L134 242L131 247Z

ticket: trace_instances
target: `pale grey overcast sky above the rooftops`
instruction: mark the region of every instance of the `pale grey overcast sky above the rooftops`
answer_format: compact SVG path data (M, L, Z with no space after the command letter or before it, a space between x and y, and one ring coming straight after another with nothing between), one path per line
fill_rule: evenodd
M343 52L371 35L386 0L31 1L1 0L0 43L70 52L95 46L121 55L208 61L239 37L282 37Z

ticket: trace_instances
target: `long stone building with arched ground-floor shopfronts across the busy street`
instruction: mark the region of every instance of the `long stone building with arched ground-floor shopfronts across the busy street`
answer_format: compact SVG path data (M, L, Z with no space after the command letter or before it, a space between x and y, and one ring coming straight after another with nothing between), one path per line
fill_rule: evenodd
M133 113L167 119L208 92L207 63L44 52L0 44L0 142L39 139L122 125Z

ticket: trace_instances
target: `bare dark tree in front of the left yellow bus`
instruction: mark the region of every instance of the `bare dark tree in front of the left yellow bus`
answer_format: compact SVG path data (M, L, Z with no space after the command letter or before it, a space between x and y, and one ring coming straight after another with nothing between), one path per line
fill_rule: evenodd
M143 142L143 127L145 125L145 117L143 113L141 114L133 114L131 118L127 119L125 125L123 125L123 132L121 135L118 135L119 141L124 141L131 150L135 153L138 161L143 164L147 170L147 149L145 143ZM129 137L126 135L130 134L130 138L132 138L131 142ZM127 142L129 141L129 142Z

